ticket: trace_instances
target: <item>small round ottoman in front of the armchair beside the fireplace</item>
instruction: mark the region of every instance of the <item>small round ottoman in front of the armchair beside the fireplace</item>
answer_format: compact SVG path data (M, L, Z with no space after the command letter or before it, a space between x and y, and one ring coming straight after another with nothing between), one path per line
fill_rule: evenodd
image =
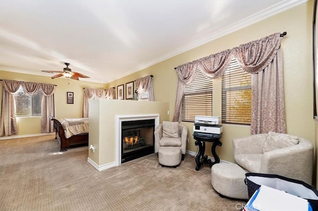
M161 166L173 166L181 162L181 148L175 146L164 146L158 150L158 160Z

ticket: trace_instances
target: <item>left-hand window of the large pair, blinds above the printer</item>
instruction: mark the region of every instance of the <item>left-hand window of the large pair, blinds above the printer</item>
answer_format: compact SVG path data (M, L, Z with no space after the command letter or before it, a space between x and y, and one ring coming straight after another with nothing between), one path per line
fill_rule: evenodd
M196 115L212 116L213 80L198 70L194 81L185 87L182 100L182 121L194 122Z

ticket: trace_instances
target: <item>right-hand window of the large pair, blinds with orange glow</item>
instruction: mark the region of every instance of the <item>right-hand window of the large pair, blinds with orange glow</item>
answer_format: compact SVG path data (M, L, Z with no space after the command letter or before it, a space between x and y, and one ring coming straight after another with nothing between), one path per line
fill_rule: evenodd
M250 124L251 79L236 59L222 76L222 123Z

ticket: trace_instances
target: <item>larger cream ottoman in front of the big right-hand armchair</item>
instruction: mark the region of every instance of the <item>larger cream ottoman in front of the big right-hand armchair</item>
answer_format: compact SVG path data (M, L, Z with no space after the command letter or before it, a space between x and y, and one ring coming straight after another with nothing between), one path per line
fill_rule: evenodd
M245 171L238 164L216 163L211 168L211 184L221 197L248 199Z

